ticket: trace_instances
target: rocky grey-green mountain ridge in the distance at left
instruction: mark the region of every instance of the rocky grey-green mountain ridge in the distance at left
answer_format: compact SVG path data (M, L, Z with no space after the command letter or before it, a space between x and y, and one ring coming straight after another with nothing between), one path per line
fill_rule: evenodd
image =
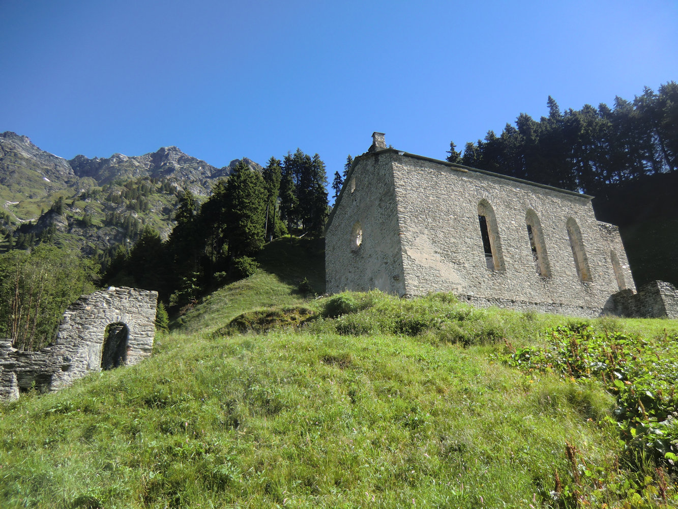
M58 242L75 242L87 254L105 251L134 241L144 225L163 237L169 235L182 193L210 195L214 182L233 173L241 160L262 170L246 157L216 168L177 147L144 155L115 153L92 159L77 155L66 160L39 149L27 136L3 132L0 215L3 224L14 223L17 242L45 235L52 240L56 235ZM59 198L62 205L56 213L53 205ZM5 224L5 230L11 231L9 226Z

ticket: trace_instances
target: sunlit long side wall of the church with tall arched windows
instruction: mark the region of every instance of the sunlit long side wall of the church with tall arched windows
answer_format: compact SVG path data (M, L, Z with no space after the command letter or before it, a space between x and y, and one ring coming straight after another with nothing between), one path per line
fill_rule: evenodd
M610 296L619 291L613 250L622 262L624 280L633 288L618 230L601 227L590 197L409 154L393 152L391 158L407 295L451 291L475 302L509 302L528 309L538 303L544 310L593 316L610 307ZM488 269L485 263L478 221L481 200L496 215L503 271ZM550 277L535 269L525 221L528 210L541 223ZM570 217L581 231L590 282L582 282L577 273L566 227Z

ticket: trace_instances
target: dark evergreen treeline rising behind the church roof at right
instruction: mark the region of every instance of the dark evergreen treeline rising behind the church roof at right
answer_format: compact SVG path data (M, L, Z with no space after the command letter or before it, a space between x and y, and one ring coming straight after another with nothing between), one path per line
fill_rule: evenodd
M597 194L607 185L678 168L678 83L633 101L616 97L561 112L549 96L549 116L521 113L497 136L466 143L463 155L450 143L447 160L528 181Z

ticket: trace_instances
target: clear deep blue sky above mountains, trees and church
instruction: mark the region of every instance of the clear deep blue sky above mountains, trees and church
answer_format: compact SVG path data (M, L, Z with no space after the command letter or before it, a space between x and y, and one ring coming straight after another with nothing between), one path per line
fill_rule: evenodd
M442 159L524 112L678 80L678 1L0 0L0 132L71 158L300 147L332 181L373 131Z

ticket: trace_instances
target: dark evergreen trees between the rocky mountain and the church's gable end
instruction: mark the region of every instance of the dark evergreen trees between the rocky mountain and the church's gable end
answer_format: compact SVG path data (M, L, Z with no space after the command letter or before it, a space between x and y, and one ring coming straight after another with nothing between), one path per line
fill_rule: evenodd
M319 155L300 149L282 161L271 157L261 173L241 162L203 204L184 191L166 242L144 227L132 250L119 247L104 281L158 290L170 305L190 305L206 289L252 274L252 256L267 240L288 231L322 235L326 184Z

